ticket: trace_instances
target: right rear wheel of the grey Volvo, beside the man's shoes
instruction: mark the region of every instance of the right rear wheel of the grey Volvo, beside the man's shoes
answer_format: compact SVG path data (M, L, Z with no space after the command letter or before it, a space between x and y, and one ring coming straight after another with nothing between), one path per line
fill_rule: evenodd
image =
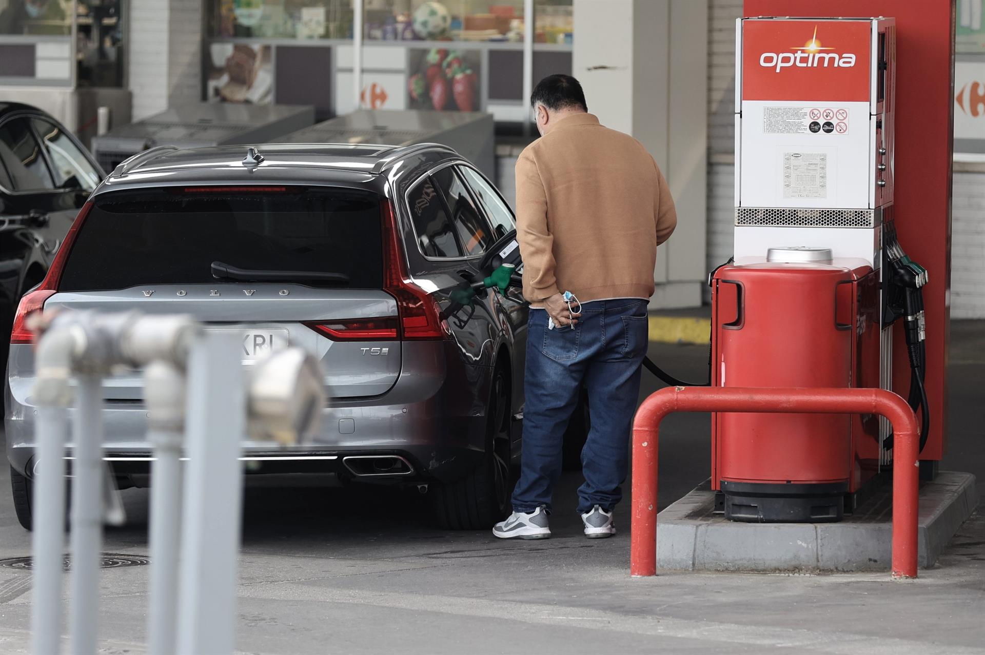
M509 495L513 491L509 466L509 383L502 369L496 369L493 374L490 396L482 463L461 480L431 485L433 515L444 529L489 529L509 509Z

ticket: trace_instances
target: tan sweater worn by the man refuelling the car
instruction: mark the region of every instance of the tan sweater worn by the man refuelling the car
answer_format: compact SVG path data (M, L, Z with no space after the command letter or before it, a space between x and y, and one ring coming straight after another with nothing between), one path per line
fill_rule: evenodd
M589 302L653 295L657 246L677 212L649 152L579 113L520 154L516 222L524 297Z

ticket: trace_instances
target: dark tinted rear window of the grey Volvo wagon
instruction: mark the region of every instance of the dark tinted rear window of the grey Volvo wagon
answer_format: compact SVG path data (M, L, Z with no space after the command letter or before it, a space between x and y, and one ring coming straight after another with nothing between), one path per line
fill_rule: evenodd
M212 264L222 262L249 270L340 273L347 281L297 281L378 289L379 202L369 192L332 188L107 194L82 224L58 288L214 283Z

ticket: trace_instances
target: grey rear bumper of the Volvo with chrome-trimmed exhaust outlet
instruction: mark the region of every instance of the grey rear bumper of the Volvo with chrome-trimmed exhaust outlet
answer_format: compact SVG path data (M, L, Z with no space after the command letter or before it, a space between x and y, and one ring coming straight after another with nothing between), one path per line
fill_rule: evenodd
M322 412L317 432L303 445L277 447L245 441L242 455L250 475L326 473L367 482L450 481L481 461L486 438L486 405L492 369L447 357L447 344L432 342L429 366L405 367L397 383L375 398L341 399ZM453 347L453 346L451 346ZM424 353L421 353L422 356ZM6 386L7 457L19 472L33 476L33 398ZM18 397L18 396L21 397ZM69 410L70 415L73 413ZM146 475L153 455L146 441L147 408L137 401L107 401L103 411L104 457L120 475ZM71 445L66 453L71 455ZM355 476L344 458L397 454L412 475Z

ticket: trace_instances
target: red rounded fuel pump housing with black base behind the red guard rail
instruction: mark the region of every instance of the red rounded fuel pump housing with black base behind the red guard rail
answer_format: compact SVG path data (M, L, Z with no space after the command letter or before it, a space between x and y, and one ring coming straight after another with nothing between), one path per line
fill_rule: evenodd
M879 387L878 273L780 251L715 272L712 385ZM839 520L879 469L878 437L873 416L715 414L712 488L735 520Z

